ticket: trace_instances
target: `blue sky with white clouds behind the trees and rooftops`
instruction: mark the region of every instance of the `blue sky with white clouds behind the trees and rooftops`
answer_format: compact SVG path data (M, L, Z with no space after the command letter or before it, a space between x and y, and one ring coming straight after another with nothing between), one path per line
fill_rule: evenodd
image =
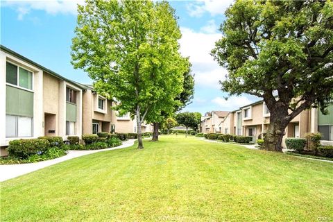
M3 46L79 83L92 80L70 61L71 39L76 27L76 6L73 1L1 1L1 38ZM231 0L169 1L175 8L182 32L180 52L189 56L195 74L195 93L183 111L205 114L212 110L237 110L253 103L255 96L231 96L221 91L219 80L228 71L219 67L210 56L214 43L222 37L220 24Z

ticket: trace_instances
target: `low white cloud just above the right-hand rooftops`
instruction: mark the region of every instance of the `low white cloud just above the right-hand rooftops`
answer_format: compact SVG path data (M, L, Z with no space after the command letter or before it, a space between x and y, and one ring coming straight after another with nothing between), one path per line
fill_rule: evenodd
M253 101L250 101L246 96L230 96L228 100L218 96L212 99L212 103L218 105L221 110L237 110L244 105L253 103Z

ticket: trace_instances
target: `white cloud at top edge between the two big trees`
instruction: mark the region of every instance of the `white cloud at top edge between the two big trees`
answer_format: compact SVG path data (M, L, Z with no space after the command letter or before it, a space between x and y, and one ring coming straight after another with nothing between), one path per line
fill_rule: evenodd
M201 17L205 12L210 15L223 15L233 0L202 0L187 4L187 12L191 17Z

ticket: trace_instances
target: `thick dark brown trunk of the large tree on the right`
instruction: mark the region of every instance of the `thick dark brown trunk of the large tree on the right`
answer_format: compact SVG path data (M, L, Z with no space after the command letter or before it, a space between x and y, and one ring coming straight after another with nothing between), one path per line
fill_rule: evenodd
M280 107L271 112L270 123L264 138L264 148L267 151L282 152L282 138L284 130L290 122L288 109Z

